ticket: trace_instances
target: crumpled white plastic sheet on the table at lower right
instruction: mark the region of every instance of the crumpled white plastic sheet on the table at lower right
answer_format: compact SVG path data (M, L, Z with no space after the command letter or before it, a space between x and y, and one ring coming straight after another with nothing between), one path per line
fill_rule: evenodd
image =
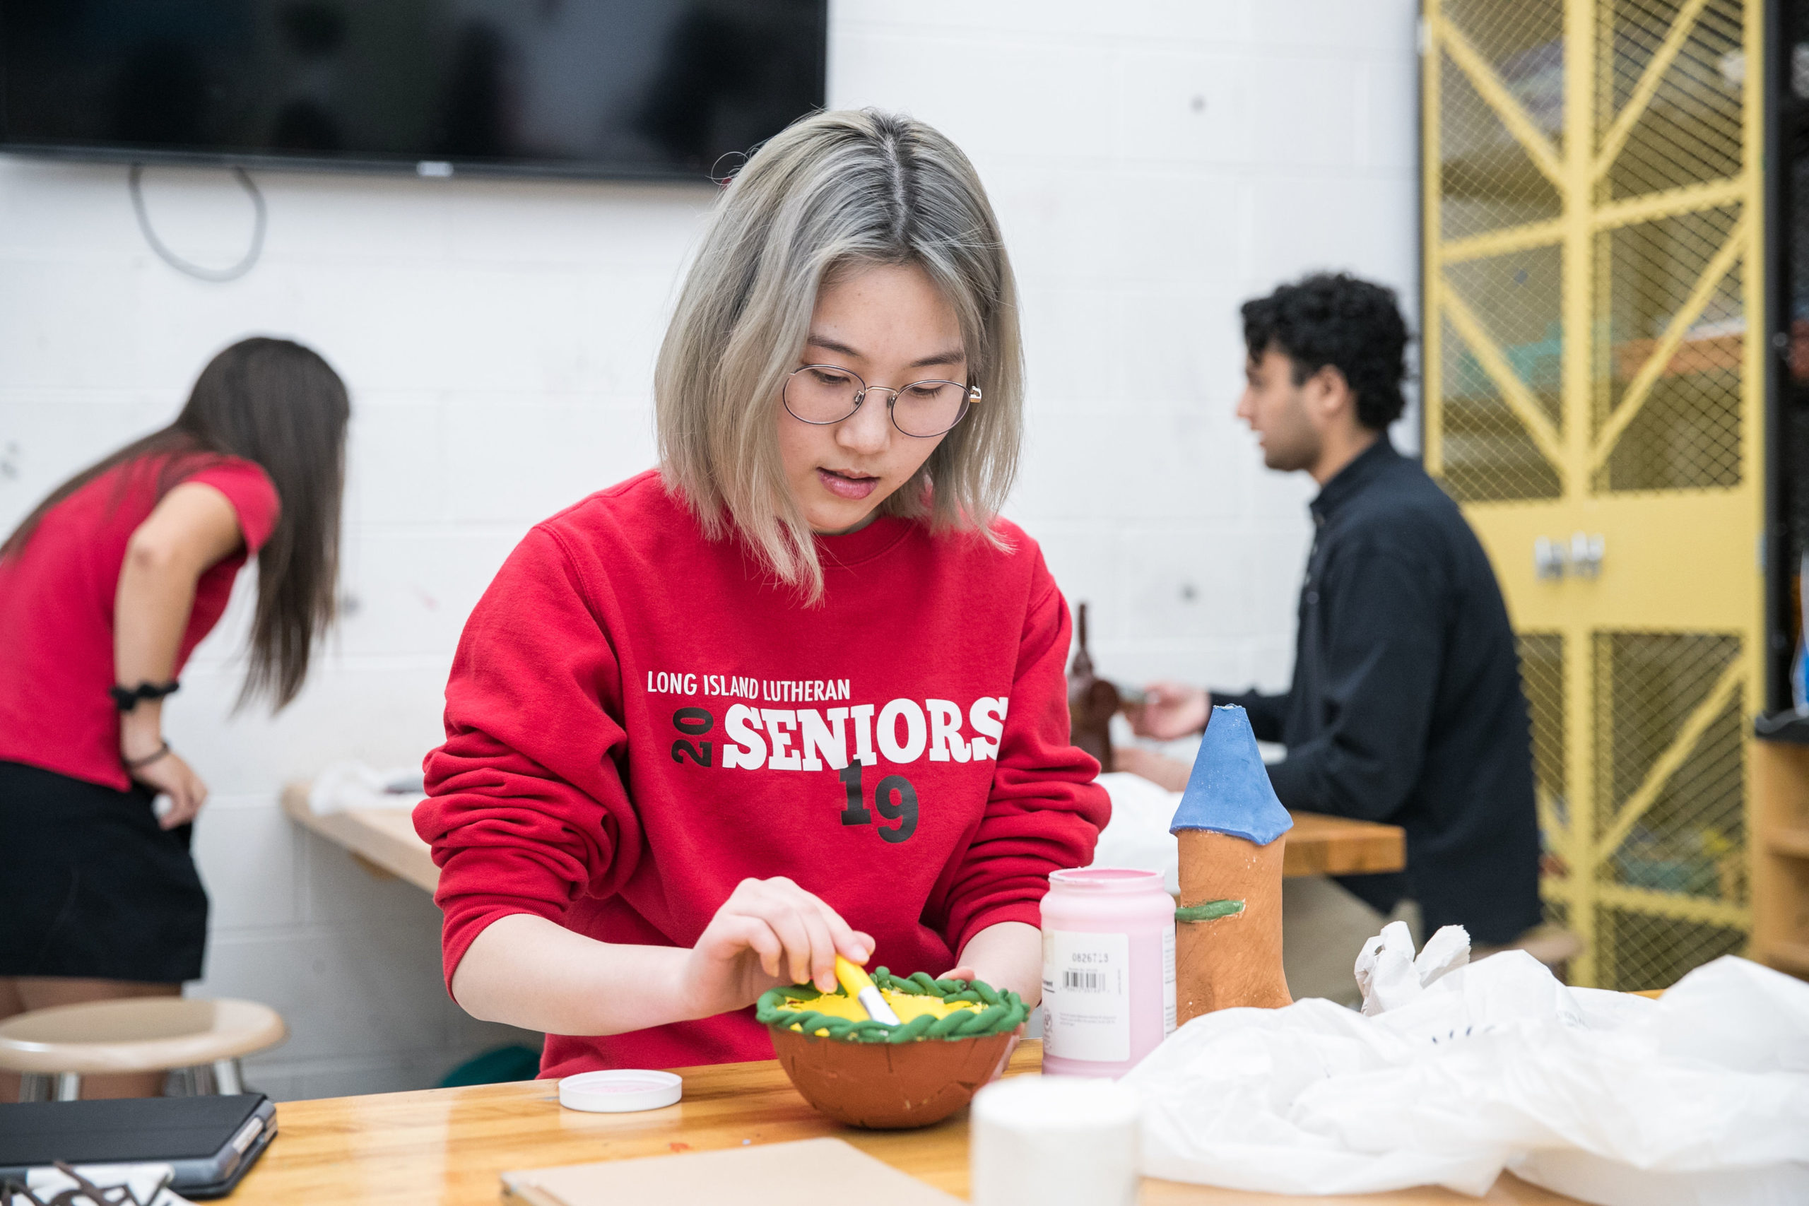
M1605 1206L1809 1202L1809 984L1733 956L1657 1002L1567 989L1523 951L1436 971L1377 1016L1301 1000L1189 1022L1123 1078L1143 1172L1482 1195L1511 1168Z

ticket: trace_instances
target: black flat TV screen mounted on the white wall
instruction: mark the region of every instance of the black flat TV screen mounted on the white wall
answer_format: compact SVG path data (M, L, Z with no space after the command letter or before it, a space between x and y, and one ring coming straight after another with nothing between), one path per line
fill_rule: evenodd
M825 45L827 0L0 0L0 150L702 179Z

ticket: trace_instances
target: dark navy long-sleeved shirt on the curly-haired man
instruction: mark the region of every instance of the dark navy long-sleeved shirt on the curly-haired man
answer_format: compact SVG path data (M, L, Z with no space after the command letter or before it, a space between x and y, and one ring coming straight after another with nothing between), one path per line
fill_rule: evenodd
M1382 436L1312 503L1293 687L1223 694L1288 747L1288 808L1407 830L1407 870L1344 877L1382 909L1420 902L1425 931L1478 944L1539 924L1532 732L1489 559L1444 490Z

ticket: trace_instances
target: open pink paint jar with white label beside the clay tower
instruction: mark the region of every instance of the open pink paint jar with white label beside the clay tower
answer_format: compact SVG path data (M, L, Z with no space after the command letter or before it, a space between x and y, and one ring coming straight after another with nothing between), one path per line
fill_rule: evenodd
M1158 872L1051 872L1042 1070L1123 1076L1174 1031L1174 897Z

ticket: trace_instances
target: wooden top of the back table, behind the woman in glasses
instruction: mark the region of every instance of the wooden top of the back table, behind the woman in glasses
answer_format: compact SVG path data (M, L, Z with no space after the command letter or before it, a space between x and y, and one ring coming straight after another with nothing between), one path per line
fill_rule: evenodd
M327 841L344 846L367 868L432 891L440 868L414 832L409 808L347 808L317 814L308 805L308 783L282 788L282 810ZM1398 824L1350 821L1317 812L1295 812L1283 875L1366 875L1407 866L1407 835Z

